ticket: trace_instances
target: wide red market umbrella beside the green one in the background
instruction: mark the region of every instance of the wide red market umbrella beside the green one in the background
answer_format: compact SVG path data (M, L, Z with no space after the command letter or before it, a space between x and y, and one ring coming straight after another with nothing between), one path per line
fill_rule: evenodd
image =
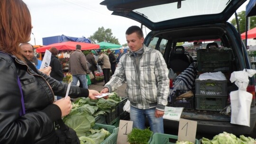
M56 47L60 50L75 50L76 45L81 45L81 50L92 50L99 49L100 45L90 44L90 43L81 43L81 42L63 42L63 43L55 43L51 45L46 45L40 48L37 48L37 53L44 53L46 50L49 50L51 47Z

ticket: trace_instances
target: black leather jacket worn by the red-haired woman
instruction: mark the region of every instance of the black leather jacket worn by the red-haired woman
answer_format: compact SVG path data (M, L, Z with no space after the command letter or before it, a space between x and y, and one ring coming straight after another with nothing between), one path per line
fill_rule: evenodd
M12 59L13 61L12 61ZM54 121L61 118L54 95L65 95L67 84L34 72L15 56L0 53L0 144L55 144ZM26 114L19 116L21 93ZM55 94L54 94L55 93ZM71 98L88 97L89 91L71 86Z

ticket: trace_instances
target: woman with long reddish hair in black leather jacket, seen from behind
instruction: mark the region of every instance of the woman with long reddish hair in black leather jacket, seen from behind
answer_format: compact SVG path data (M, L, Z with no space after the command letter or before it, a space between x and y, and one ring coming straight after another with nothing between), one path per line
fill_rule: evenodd
M31 16L22 0L0 0L0 144L55 144L54 122L69 114L71 98L100 95L39 72L22 56L20 43L31 34Z

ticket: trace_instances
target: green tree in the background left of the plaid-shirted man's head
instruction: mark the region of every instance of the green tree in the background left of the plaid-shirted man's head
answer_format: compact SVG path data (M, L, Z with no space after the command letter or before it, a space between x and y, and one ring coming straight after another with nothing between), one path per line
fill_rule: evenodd
M93 35L90 36L89 38L94 43L107 42L107 43L120 45L118 38L112 35L113 33L110 28L105 29L104 27L99 27L98 30L95 33L93 33Z

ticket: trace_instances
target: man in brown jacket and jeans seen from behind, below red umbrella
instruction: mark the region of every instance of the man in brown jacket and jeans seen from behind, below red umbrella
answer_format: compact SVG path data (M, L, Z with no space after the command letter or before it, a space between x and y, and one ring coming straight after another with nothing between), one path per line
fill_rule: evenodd
M72 73L72 85L76 85L78 80L82 82L82 87L88 89L86 74L89 74L85 55L81 51L81 45L76 45L76 50L70 54L68 70Z

